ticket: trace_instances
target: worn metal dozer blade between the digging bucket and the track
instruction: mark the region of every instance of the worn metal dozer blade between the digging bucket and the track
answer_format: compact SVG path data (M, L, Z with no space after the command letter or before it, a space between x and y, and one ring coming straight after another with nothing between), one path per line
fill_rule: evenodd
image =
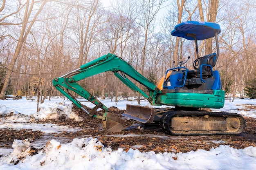
M153 123L155 118L155 108L126 105L126 112L122 114L124 117L139 121L141 123Z

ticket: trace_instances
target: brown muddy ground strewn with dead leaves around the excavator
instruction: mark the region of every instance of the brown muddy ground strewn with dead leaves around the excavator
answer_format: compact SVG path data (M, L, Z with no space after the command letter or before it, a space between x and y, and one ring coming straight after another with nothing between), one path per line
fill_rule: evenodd
M248 106L250 107L250 106ZM90 108L88 108L90 110ZM245 108L250 109L250 108ZM158 152L189 152L198 149L210 150L219 145L229 145L233 148L243 149L248 146L256 146L256 119L247 118L246 128L240 135L204 135L204 136L172 136L166 133L159 126L135 124L121 132L107 132L102 127L100 119L91 118L77 108L73 107L73 111L83 118L83 121L74 121L66 118L64 115L56 119L37 120L38 124L58 124L61 126L79 127L83 130L77 132L61 132L49 137L49 140L56 138L65 138L67 141L72 141L74 138L96 137L106 147L111 147L112 150L123 148L138 149L141 152L154 151ZM124 110L119 110L116 107L110 107L110 112L115 115L120 115ZM100 113L98 113L100 114ZM41 131L31 129L0 129L0 143L4 147L11 147L14 139L34 139L36 142L44 137Z

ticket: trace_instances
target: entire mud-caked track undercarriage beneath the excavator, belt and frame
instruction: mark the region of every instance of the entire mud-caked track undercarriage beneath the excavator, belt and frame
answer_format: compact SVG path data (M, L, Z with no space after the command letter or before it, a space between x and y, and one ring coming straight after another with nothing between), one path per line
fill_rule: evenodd
M161 126L172 135L238 135L245 120L236 113L172 111L162 115Z

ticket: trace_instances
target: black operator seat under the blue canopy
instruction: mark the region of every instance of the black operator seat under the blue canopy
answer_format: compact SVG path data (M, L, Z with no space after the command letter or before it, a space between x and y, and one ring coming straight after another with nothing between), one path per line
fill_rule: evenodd
M208 78L212 74L212 67L214 63L215 53L208 54L203 57L196 59L193 63L194 70L189 70L187 73L188 78L199 78L200 77L200 68L202 65L210 65L210 66L202 66L202 78Z

